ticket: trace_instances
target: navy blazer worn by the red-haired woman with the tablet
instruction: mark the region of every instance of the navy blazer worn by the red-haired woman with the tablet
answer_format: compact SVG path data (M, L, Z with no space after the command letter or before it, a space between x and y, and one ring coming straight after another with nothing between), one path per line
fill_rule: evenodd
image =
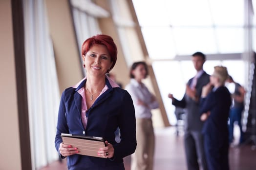
M113 88L106 78L108 89L87 110L85 129L81 119L82 97L77 92L85 82L86 79L77 88L69 87L62 94L55 147L59 152L61 133L104 137L114 147L113 159L74 154L67 156L67 166L69 168L77 165L77 169L119 169L117 165L123 164L123 157L134 153L136 149L136 121L132 99L126 90ZM120 143L115 141L118 127Z

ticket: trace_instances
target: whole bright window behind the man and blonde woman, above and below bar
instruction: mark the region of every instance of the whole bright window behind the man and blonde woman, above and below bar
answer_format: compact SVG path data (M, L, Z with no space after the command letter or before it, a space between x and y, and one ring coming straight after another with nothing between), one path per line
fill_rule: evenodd
M211 74L214 66L223 65L236 82L247 83L247 66L242 61L248 38L244 29L244 0L132 2L171 124L176 123L175 108L167 95L183 97L187 81L195 75L190 61L192 53L216 54L216 59L205 63L206 72ZM234 58L231 54L235 54ZM226 55L231 57L227 59ZM187 57L182 61L179 56Z

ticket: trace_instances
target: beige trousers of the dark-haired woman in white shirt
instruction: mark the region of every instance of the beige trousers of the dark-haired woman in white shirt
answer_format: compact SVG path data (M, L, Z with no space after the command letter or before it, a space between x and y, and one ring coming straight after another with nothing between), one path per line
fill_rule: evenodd
M155 136L151 119L136 119L137 148L131 155L131 170L152 170Z

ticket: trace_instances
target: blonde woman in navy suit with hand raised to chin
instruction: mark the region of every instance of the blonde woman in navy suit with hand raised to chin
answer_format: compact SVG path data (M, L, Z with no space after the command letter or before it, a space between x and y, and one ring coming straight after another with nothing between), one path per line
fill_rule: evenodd
M228 78L226 67L216 66L210 83L203 87L200 113L203 127L204 148L208 170L229 170L228 117L231 94L225 87Z

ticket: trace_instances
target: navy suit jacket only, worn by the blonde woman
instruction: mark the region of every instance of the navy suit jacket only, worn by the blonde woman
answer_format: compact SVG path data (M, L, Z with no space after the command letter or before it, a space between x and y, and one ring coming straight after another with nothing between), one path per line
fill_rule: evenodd
M231 95L225 86L211 91L206 98L201 98L200 113L211 112L203 126L202 133L214 136L217 141L228 138L228 118Z

